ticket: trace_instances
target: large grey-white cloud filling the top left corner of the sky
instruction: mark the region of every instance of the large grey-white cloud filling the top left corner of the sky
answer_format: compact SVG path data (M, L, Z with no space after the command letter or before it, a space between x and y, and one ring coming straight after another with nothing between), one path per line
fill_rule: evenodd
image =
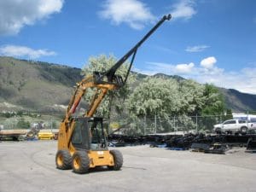
M64 0L0 1L0 35L15 35L21 28L33 25L61 11Z

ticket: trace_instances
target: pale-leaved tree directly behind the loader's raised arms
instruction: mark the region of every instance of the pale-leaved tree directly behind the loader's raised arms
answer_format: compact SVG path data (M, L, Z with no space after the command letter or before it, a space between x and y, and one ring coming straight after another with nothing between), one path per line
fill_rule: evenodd
M99 55L97 57L90 57L89 61L85 64L83 69L84 76L91 75L94 71L106 72L110 67L116 63L117 59L113 55ZM125 75L128 70L129 64L125 62L124 65L119 67L116 74L123 77L125 80ZM118 113L124 110L124 100L129 96L131 92L131 84L134 83L136 79L135 73L130 73L129 78L125 86L119 90L109 90L107 96L104 97L101 105L97 108L96 115L109 118L111 111L115 109ZM86 92L84 99L87 103L90 103L95 90L91 89Z

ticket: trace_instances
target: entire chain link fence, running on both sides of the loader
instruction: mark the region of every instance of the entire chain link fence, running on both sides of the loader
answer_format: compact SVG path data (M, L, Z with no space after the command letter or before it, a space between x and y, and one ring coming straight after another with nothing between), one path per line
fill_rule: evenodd
M160 133L198 133L213 132L213 125L222 123L225 120L223 115L207 115L207 116L173 116L161 118L154 117L143 118L111 118L106 119L104 126L108 128L109 133L122 133L127 136L141 136L148 134ZM0 119L0 129L58 129L61 120L56 119Z

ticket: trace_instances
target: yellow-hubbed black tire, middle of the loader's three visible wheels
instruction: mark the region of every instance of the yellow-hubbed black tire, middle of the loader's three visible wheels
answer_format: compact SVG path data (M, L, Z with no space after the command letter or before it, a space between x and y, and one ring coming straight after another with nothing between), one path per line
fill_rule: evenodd
M73 172L84 174L89 172L90 159L86 151L77 151L72 156Z

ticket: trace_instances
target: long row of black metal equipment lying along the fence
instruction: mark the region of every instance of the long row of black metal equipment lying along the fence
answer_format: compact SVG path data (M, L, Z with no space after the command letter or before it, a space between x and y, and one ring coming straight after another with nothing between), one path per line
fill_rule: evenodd
M110 135L110 146L124 147L149 144L150 147L168 148L172 150L188 150L211 154L225 154L233 147L247 147L247 151L256 152L256 135L147 135L131 137Z

